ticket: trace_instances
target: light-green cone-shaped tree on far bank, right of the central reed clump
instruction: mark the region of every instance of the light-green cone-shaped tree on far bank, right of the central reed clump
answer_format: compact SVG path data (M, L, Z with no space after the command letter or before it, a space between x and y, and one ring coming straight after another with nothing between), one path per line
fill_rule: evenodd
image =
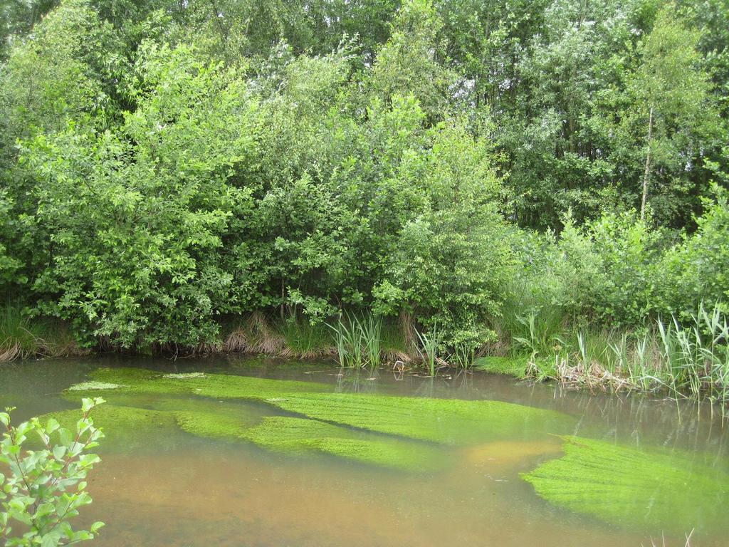
M412 176L426 204L403 225L388 276L373 292L382 311L414 311L437 322L445 344L470 351L493 336L484 320L497 313L510 271L496 209L500 182L491 144L471 136L463 120L440 123L427 137Z

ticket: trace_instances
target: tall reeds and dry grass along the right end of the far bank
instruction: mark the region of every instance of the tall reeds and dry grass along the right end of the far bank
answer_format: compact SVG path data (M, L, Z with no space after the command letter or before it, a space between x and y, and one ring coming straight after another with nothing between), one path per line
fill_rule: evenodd
M658 318L636 332L583 329L550 340L534 314L523 324L528 335L514 340L530 352L532 376L666 389L671 397L711 400L729 411L729 319L720 304L683 319ZM545 365L550 354L555 366Z

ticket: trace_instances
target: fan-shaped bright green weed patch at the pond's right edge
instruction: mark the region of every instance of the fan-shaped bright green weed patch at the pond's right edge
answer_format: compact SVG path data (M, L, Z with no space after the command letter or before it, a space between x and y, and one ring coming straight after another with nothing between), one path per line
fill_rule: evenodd
M724 471L696 464L686 454L564 440L564 457L522 475L550 503L624 527L677 533L727 529L722 508L729 475Z

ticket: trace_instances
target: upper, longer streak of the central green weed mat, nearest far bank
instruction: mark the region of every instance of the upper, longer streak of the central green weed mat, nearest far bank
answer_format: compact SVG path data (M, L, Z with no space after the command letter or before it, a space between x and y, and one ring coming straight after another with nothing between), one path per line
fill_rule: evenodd
M564 433L572 424L572 419L558 412L494 400L331 393L324 384L222 374L179 380L133 368L102 368L91 376L123 384L105 393L114 399L149 393L257 400L311 419L447 444L484 442L518 431Z

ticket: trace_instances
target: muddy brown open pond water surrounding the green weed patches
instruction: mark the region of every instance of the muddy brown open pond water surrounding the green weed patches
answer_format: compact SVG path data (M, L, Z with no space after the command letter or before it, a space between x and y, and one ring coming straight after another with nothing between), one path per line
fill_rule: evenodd
M481 373L397 379L386 369L340 371L327 363L242 358L46 360L0 365L0 406L16 406L16 421L74 408L63 389L85 381L95 368L117 365L312 381L328 384L332 392L518 403L570 416L572 435L690 454L717 473L729 472L729 427L708 406L590 395ZM147 397L153 404L157 396ZM223 414L233 406L271 414L262 403L215 403ZM153 442L135 439L132 432L122 446L101 447L103 462L89 481L94 503L82 519L106 522L93 542L99 547L638 547L650 546L651 538L663 545L663 530L650 518L642 525L603 521L539 497L520 473L562 452L560 438L519 430L512 438L449 447L437 470L408 472L331 454L293 457L160 427ZM729 493L706 504L707 512L729 514ZM729 546L729 529L701 522L693 527L693 547ZM665 542L683 546L685 538L671 532Z

